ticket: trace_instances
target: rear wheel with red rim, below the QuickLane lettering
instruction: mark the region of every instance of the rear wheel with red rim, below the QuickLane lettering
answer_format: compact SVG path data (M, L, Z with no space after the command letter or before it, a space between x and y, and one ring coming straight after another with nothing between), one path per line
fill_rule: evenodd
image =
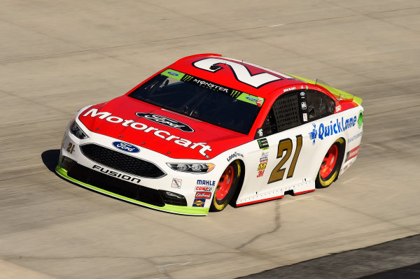
M344 140L338 138L334 144L331 145L327 154L322 160L321 167L318 171L318 176L315 180L315 185L318 188L325 188L331 185L337 178L339 167L342 164L344 155Z

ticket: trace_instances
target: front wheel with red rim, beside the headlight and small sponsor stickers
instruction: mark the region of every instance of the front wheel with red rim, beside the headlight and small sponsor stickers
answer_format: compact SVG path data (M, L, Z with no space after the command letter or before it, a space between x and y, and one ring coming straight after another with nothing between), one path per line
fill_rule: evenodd
M235 194L239 178L241 177L241 164L239 161L232 162L225 171L217 184L214 192L213 200L211 201L211 211L223 210L232 196Z

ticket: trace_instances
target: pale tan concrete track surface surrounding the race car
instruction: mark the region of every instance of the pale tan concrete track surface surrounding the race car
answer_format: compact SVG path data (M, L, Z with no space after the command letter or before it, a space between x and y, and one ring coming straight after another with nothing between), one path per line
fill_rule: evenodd
M238 278L419 234L419 1L0 6L0 278ZM135 206L55 175L76 110L205 52L360 96L356 163L328 189L207 217ZM370 257L374 268L354 277L416 264L405 251L398 264Z

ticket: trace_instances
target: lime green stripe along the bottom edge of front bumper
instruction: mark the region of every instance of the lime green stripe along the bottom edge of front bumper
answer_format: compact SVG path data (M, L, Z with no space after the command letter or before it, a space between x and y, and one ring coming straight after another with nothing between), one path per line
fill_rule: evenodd
M166 204L165 206L162 206L162 207L153 206L153 204L148 204L148 203L144 203L142 201L137 201L135 199L130 199L130 198L127 198L126 196L120 196L119 194L115 194L113 192L109 192L109 191L106 191L104 189L100 189L98 187L94 187L92 185L89 185L89 184L83 183L79 180L76 180L74 178L71 178L70 176L67 175L67 171L60 166L57 166L55 171L57 172L57 174L59 174L59 176L62 176L63 178L66 178L67 180L72 181L73 183L77 183L77 184L82 185L84 187L94 189L97 192L101 192L101 193L107 194L109 196L115 196L116 198L123 199L124 201L130 201L132 203L141 204L142 206L147 206L149 208L155 208L155 209L161 210L161 211L166 211L166 212L170 212L170 213L186 214L186 215L207 215L207 213L209 213L209 208L192 207L192 206L172 206L170 204Z

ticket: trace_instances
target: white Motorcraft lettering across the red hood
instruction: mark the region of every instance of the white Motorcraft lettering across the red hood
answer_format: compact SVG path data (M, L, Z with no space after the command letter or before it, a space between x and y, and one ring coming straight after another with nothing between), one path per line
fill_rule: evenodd
M209 158L209 155L206 154L207 151L211 151L211 147L207 143L193 143L188 141L185 138L180 138L179 136L174 136L169 131L160 130L155 127L148 127L148 125L141 122L134 122L134 120L123 120L123 118L118 116L113 116L112 113L101 112L98 113L97 108L92 108L88 110L83 116L98 117L99 119L106 120L111 123L120 123L124 127L131 127L132 129L137 129L143 131L144 133L149 133L153 131L153 135L162 138L166 141L174 141L177 145L181 145L185 148L195 149L200 146L200 154L206 158Z

